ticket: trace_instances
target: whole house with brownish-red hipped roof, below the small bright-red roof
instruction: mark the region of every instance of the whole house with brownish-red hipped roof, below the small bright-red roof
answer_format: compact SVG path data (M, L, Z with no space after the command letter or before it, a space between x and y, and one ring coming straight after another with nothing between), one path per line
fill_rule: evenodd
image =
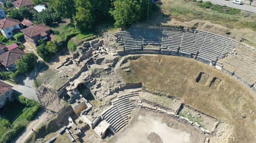
M1 67L4 67L8 71L15 70L15 63L23 56L25 56L25 52L20 50L19 48L12 49L8 52L5 52L0 55L0 63Z

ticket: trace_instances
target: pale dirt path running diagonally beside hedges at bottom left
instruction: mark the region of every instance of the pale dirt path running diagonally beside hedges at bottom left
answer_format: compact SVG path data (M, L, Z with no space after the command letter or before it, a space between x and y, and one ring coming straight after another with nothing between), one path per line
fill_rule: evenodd
M14 139L14 143L24 143L26 141L26 139L33 133L32 129L37 129L44 121L47 120L47 117L51 116L50 113L46 113L44 111L41 111L38 116L32 121L30 122L27 126L26 129L19 133L16 137L16 139Z

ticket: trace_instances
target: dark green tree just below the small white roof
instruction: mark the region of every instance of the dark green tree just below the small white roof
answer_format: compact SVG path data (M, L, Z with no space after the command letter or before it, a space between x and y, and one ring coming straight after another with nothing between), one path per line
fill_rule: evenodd
M46 25L51 25L53 22L58 22L61 20L60 14L55 12L51 7L48 7L46 10L40 13L34 11L33 16L34 20Z

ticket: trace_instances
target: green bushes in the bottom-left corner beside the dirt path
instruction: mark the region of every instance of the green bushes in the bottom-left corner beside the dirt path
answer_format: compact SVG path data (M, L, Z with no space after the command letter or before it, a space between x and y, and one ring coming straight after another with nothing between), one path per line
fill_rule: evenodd
M25 125L16 124L11 130L8 130L0 138L0 143L8 143L16 137L16 135L25 128Z

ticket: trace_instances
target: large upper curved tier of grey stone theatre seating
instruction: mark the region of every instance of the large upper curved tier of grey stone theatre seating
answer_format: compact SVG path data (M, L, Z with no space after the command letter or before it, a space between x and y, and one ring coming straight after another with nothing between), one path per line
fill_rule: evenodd
M194 58L216 66L256 92L255 48L236 40L202 30L187 32L162 27L135 27L114 35L125 53L160 53ZM147 45L152 46L148 48Z

